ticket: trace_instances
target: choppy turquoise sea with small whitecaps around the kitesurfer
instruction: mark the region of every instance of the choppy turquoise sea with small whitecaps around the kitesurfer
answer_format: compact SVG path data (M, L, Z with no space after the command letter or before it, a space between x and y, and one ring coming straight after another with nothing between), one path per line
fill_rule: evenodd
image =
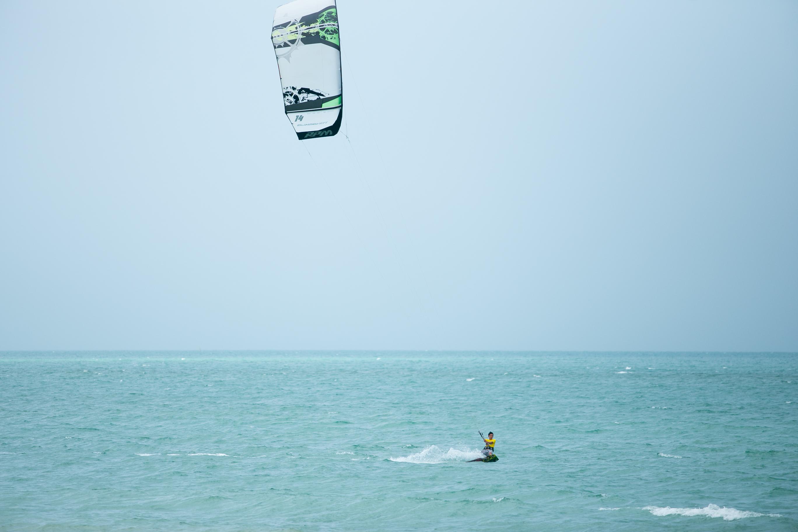
M798 530L794 354L0 353L0 420L4 531Z

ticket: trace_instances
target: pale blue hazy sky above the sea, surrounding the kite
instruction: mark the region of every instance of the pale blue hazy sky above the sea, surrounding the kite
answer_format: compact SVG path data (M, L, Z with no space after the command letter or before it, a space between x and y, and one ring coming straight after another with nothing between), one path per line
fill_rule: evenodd
M279 3L0 2L0 349L798 350L798 2Z

